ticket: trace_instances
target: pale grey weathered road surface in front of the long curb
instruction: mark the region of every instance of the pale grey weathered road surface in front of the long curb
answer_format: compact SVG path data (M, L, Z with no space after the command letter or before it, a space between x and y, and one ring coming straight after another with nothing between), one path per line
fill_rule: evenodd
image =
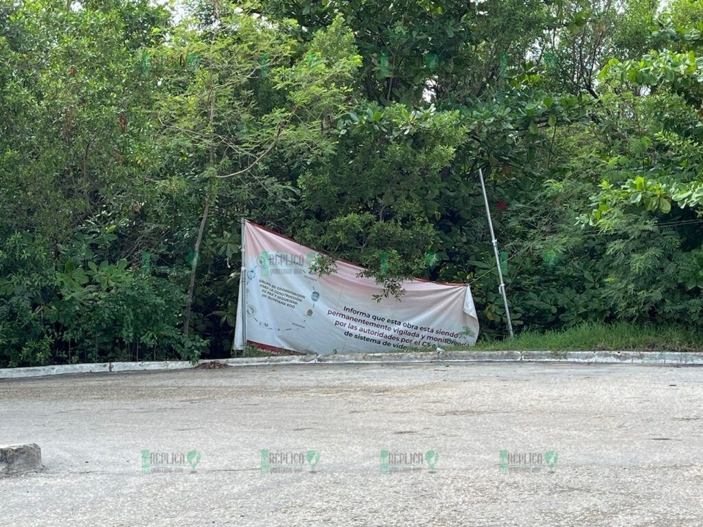
M703 526L703 367L314 364L4 380L0 443L39 443L46 467L0 479L8 527ZM143 467L143 450L182 471ZM300 471L262 474L262 450ZM422 464L382 474L381 450ZM501 450L534 466L501 467Z

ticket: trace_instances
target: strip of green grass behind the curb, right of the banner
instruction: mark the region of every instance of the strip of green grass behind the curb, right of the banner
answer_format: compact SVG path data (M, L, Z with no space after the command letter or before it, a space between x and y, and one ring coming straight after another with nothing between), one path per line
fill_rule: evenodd
M448 349L703 351L703 331L673 325L584 323L562 331L524 331L512 339L479 339L475 346L451 346Z

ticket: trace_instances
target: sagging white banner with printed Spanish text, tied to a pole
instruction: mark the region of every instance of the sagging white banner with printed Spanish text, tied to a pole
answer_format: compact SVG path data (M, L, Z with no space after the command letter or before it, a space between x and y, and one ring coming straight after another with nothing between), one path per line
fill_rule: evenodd
M240 287L235 344L273 351L368 353L434 350L474 344L479 332L468 285L427 280L402 282L405 294L375 301L382 286L363 278L363 268L337 260L337 272L318 276L310 265L318 252L245 222L246 302Z

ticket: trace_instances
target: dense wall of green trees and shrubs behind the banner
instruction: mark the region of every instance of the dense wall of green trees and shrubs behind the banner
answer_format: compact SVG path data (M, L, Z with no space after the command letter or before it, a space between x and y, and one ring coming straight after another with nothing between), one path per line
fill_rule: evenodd
M703 6L0 6L0 367L228 356L246 216L515 325L703 327Z

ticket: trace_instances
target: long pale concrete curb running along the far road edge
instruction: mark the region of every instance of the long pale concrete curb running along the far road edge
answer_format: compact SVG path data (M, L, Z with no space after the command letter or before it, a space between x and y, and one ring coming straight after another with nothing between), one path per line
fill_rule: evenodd
M408 353L349 353L344 355L291 355L271 357L200 360L198 365L223 363L229 366L275 364L380 364L380 363L466 363L466 362L554 362L606 364L703 365L703 353L678 351L413 351ZM0 379L44 377L66 373L110 373L186 370L194 367L186 360L163 360L132 363L67 364L34 367L0 368Z

